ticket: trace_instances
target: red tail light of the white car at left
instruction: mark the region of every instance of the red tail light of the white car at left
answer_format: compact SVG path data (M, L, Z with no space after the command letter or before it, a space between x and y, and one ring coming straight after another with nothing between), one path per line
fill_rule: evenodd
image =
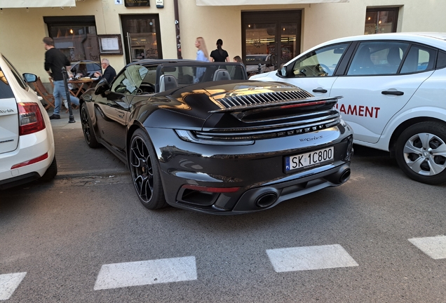
M45 121L36 103L19 103L19 135L29 135L45 129Z

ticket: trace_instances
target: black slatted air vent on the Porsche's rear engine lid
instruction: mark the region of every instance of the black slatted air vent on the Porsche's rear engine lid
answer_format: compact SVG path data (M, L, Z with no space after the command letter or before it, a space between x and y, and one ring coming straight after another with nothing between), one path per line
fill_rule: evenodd
M259 105L283 101L301 100L313 97L304 90L289 90L274 93L258 93L253 95L238 95L219 99L226 108L240 107L244 105Z

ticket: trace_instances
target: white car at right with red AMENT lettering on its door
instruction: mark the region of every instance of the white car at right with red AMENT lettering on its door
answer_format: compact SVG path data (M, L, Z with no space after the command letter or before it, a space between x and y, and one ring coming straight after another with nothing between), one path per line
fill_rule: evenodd
M250 80L292 83L337 103L356 144L391 152L419 182L446 182L446 33L327 41Z

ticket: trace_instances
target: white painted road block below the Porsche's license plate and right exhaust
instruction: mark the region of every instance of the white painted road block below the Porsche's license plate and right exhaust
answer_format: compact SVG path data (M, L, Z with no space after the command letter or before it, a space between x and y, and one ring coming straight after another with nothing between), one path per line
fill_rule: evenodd
M339 244L266 250L276 272L359 266Z

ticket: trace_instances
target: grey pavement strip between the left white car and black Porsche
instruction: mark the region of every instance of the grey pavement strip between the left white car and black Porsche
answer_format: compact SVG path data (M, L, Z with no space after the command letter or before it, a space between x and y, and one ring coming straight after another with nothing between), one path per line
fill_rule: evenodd
M83 139L79 109L73 109L73 116L76 122L68 123L69 114L62 108L60 120L51 120L58 161L56 178L128 174L126 165L108 149L88 147Z

